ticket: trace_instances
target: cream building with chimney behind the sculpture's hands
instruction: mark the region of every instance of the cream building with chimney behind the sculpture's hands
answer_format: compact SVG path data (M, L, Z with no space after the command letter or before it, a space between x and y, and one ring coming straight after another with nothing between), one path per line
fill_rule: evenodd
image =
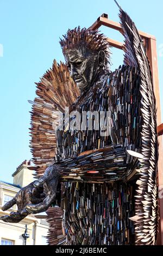
M0 216L9 215L11 211L16 211L17 206L14 205L8 211L2 211L2 206L11 200L21 187L27 186L33 179L33 171L29 170L29 161L24 161L16 172L12 174L14 177L13 184L0 181ZM0 221L0 245L24 245L25 240L23 234L26 230L29 238L26 245L47 245L48 223L45 218L38 218L39 215L28 215L19 223L5 223Z

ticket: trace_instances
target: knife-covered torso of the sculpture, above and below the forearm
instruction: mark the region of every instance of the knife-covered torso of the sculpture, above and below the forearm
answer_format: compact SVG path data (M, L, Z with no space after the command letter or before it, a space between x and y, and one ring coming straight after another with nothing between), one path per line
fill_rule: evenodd
M116 164L123 166L123 172L127 172L131 159L127 156L126 149L139 149L140 143L136 139L141 122L140 96L136 92L138 83L137 71L129 66L122 66L114 73L102 76L83 101L77 101L75 106L79 112L104 111L105 118L106 111L109 111L109 136L101 136L101 131L94 129L65 130L63 134L59 133L61 138L58 138L58 159L78 156L86 150L119 145L124 154L118 156ZM104 181L105 176L101 176L101 179L105 178ZM99 177L96 175L94 178L96 177L98 181ZM129 217L134 216L133 186L126 182L66 182L65 187L61 205L68 244L128 245L134 242L134 226L129 221Z

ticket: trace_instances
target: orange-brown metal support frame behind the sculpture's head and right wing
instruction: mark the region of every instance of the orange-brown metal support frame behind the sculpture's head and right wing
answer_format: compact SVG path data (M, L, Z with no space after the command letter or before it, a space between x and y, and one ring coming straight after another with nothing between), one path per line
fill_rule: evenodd
M107 14L102 14L101 17L97 19L95 23L90 27L92 30L98 29L101 26L106 26L119 31L123 34L122 27L120 23L111 21L108 19ZM149 63L151 65L152 79L154 86L154 93L156 98L156 108L157 108L157 123L158 123L158 141L159 141L159 161L158 161L158 186L163 186L163 148L162 148L162 137L163 135L163 124L161 124L161 107L160 107L160 93L159 93L159 74L158 74L158 58L156 52L156 38L153 35L149 35L145 32L139 31L140 36L145 42L147 49L147 56ZM108 38L109 44L112 47L124 50L124 44L116 40ZM159 199L159 211L160 211L160 221L159 221L159 234L158 234L158 245L163 245L163 198Z

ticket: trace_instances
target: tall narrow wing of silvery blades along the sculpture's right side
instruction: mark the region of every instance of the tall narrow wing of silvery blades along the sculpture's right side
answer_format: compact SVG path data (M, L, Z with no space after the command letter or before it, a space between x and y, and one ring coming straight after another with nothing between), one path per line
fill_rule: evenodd
M155 96L152 84L151 70L146 55L145 46L134 22L120 8L121 26L124 32L126 51L124 64L136 66L141 76L141 159L140 176L137 180L135 196L136 245L155 245L158 229L157 206L157 162L158 138L156 125ZM144 158L143 158L144 156Z

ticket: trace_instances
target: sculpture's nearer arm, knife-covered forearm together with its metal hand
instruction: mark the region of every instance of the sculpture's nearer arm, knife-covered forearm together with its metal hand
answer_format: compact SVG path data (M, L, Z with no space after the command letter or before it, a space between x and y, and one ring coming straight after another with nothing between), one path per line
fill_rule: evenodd
M22 214L36 214L46 211L54 201L59 181L104 182L121 180L126 172L126 152L121 146L85 151L78 157L49 166L43 176L34 182L34 187L43 191L46 197L38 204L29 203Z

